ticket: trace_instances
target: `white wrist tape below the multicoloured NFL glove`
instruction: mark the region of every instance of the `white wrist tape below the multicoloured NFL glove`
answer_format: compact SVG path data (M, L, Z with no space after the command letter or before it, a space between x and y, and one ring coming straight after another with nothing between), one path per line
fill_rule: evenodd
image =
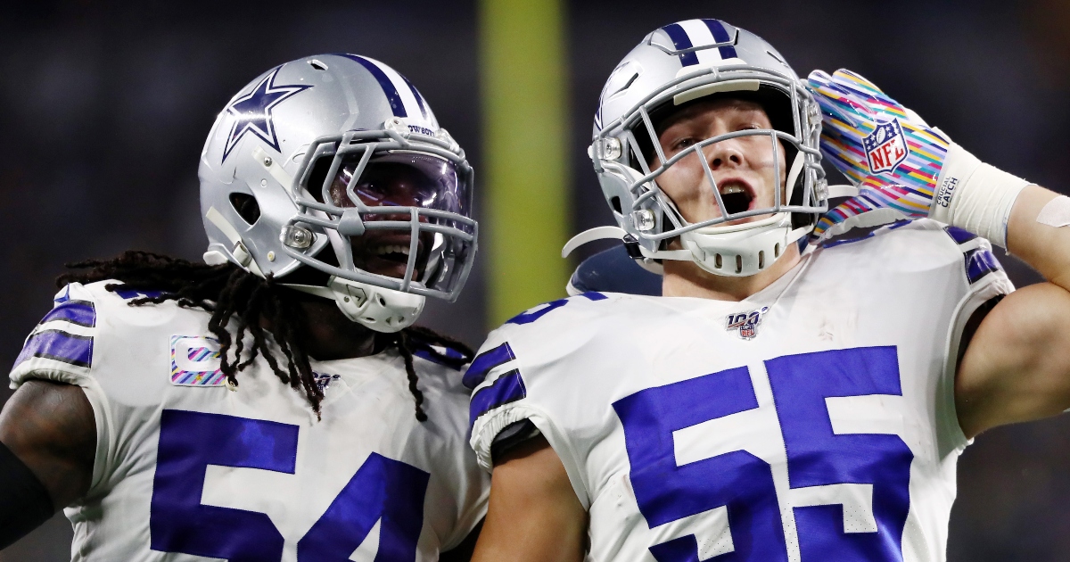
M1007 247L1007 221L1022 189L1029 182L996 169L951 143L929 217L963 228Z

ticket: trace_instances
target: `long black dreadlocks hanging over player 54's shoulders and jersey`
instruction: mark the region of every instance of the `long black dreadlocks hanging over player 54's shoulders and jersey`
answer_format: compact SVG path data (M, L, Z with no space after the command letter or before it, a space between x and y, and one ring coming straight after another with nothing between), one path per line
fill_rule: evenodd
M230 384L236 386L238 371L253 364L258 353L262 354L275 376L293 389L303 390L312 411L317 416L320 415L323 391L316 383L308 354L302 348L295 329L304 325L304 312L287 298L285 288L279 287L273 276L261 278L232 263L209 265L137 250L127 250L106 260L67 263L66 267L88 271L60 275L56 278L56 285L60 288L70 283L88 284L114 279L122 282L123 289L153 291L131 301L132 306L174 301L179 306L202 308L211 313L208 328L219 339L219 370L227 376ZM120 284L110 284L105 288L114 291L118 287ZM159 291L158 294L153 294L156 291ZM238 324L234 336L227 331L231 319ZM286 358L285 369L268 347L261 319L266 320L266 331ZM253 336L253 349L248 350L248 358L242 361L246 331ZM416 420L421 422L427 420L427 414L423 406L424 393L417 386L419 379L413 367L413 353L429 353L435 361L455 368L469 363L475 355L464 344L421 326L410 326L394 334L376 334L376 337L383 338L381 343L384 345L397 347L401 354L409 376L409 392L416 401ZM231 347L234 348L233 359L228 359ZM446 354L435 347L456 350L461 356Z

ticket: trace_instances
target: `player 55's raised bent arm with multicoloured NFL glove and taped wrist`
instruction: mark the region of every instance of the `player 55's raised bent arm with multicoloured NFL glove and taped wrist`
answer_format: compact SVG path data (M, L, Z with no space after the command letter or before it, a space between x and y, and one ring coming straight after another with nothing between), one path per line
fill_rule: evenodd
M822 152L859 187L822 217L819 236L865 216L928 216L1008 248L1048 279L1006 297L968 341L956 374L966 436L1070 408L1070 199L981 163L858 74L814 71L809 82Z

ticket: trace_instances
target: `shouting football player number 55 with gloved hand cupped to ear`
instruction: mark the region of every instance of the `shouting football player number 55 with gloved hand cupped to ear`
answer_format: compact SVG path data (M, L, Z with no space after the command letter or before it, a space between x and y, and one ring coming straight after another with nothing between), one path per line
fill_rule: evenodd
M1070 407L1070 199L784 61L694 19L613 71L591 156L617 226L566 250L622 238L663 297L490 335L464 376L493 470L474 560L944 560L970 439ZM1012 292L990 241L1050 280Z

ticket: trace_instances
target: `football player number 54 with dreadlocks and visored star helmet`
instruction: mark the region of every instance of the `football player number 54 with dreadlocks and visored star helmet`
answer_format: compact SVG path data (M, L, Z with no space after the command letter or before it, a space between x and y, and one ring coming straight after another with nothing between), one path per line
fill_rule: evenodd
M27 338L0 547L64 508L74 560L467 560L472 353L412 325L475 257L464 152L396 71L323 55L243 88L199 177L204 263L77 263Z

